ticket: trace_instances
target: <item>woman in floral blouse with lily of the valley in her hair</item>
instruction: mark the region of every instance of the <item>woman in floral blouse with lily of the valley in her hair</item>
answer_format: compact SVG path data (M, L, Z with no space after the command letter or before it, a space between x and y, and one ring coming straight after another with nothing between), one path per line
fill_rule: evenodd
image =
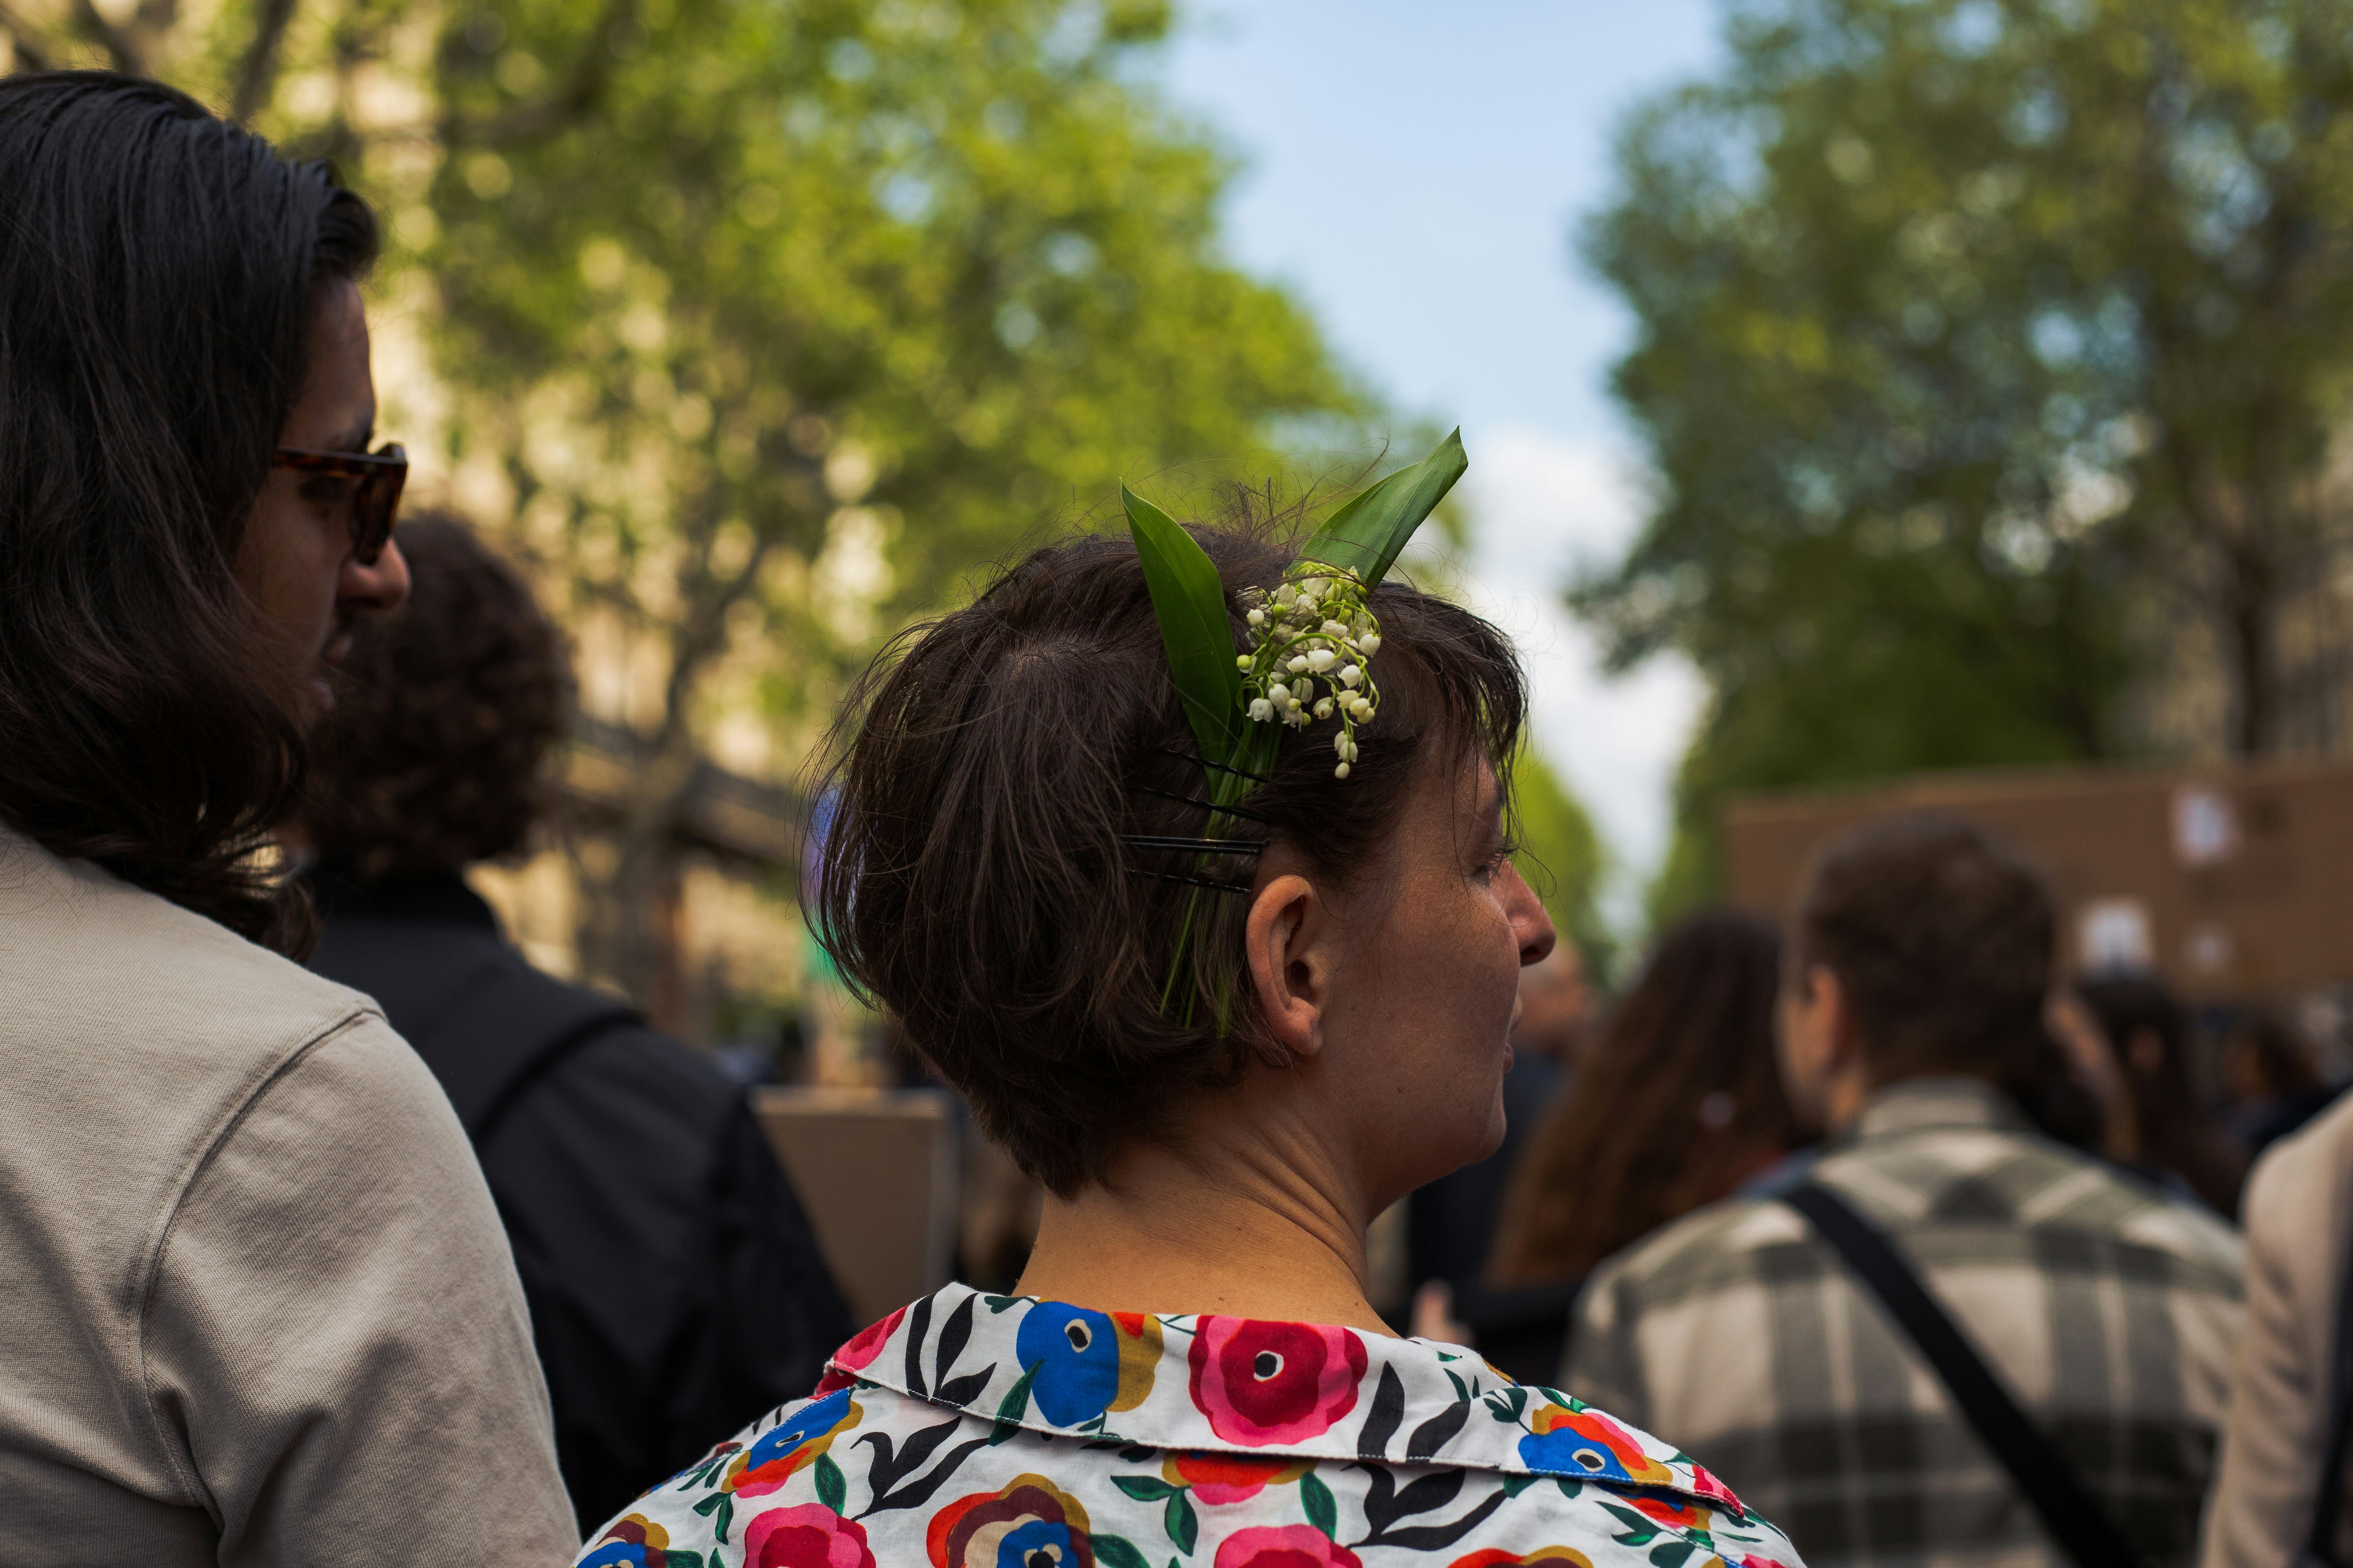
M1367 1222L1501 1138L1553 945L1511 865L1518 661L1381 581L1449 454L1306 555L1132 498L1134 543L1042 548L868 670L816 924L1045 1185L1038 1246L1016 1295L864 1331L584 1563L1793 1559L1687 1455L1365 1298Z

